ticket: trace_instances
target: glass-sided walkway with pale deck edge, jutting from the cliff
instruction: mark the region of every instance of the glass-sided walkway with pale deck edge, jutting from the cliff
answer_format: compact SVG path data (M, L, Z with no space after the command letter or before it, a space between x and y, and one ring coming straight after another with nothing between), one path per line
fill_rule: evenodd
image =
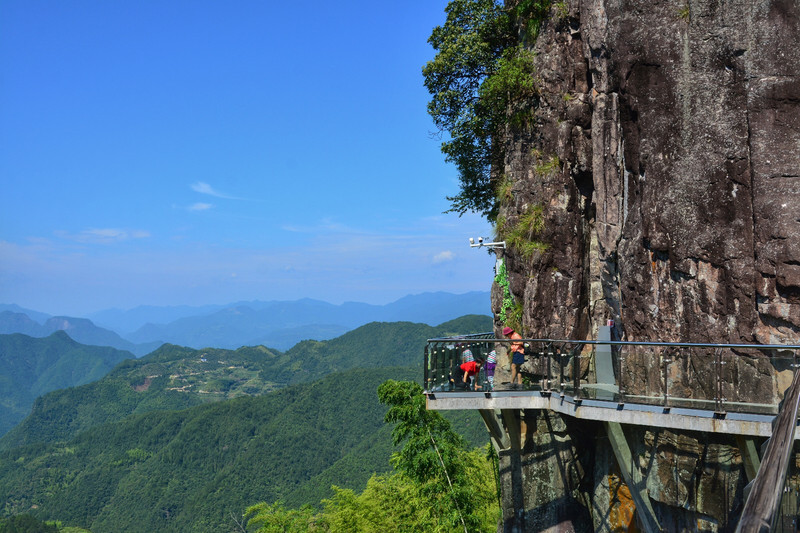
M800 438L800 345L612 341L610 328L601 328L594 341L523 339L526 361L522 384L515 386L510 342L491 333L430 339L424 363L428 408L481 411L495 442L502 430L486 413L507 409L547 409L618 429L633 424L749 442L765 437L762 457L754 445L742 446L755 479L737 531L797 530L800 494L785 482ZM463 363L490 356L497 359L494 376L484 365L461 379ZM645 529L658 531L647 516L649 501L638 503Z

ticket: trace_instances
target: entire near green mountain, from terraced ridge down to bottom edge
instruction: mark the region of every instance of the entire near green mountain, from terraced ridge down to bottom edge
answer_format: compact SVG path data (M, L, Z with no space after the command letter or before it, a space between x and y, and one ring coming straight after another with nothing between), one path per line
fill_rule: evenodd
M486 316L371 323L287 352L165 345L127 359L40 397L0 441L0 516L93 533L232 531L256 502L318 505L333 484L363 490L391 470L378 385L421 380L427 338L490 329ZM488 442L476 413L451 418Z

